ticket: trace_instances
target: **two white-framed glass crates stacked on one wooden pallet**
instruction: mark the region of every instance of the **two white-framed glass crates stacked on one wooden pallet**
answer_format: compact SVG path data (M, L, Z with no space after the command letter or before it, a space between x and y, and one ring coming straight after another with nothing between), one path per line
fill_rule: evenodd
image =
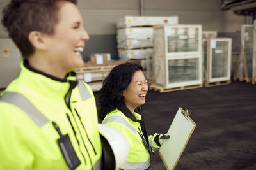
M159 92L202 87L202 25L154 27L154 80Z

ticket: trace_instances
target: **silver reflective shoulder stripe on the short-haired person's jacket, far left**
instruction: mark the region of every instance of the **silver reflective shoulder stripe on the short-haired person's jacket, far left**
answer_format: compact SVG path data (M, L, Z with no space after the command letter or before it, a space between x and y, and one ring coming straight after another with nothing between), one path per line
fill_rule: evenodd
M18 92L5 92L0 96L0 101L11 103L21 110L23 110L39 127L49 122L48 118L44 116L25 96Z

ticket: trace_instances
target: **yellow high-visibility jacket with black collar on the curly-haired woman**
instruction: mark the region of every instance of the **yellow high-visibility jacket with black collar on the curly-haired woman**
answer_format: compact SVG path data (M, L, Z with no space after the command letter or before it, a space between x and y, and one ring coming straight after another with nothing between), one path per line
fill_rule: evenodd
M122 110L122 111L120 111ZM102 124L110 125L120 131L129 143L129 155L124 164L124 169L147 169L150 166L150 152L146 145L152 150L156 150L160 146L154 141L154 136L147 136L145 126L141 114L128 110L125 106L115 109L108 113ZM143 139L145 139L143 142Z

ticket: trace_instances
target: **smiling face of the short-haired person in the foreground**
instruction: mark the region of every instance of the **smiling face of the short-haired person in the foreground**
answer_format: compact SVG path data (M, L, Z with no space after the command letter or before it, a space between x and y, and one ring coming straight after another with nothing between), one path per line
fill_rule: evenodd
M60 4L58 22L53 35L45 35L47 55L45 59L58 71L68 73L82 67L81 52L90 38L83 27L83 19L75 4L64 1Z

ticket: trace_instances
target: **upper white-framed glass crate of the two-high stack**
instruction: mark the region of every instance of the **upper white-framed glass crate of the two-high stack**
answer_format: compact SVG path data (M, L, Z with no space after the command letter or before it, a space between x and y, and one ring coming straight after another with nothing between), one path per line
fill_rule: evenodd
M202 25L164 25L154 27L154 55L177 57L200 55Z

